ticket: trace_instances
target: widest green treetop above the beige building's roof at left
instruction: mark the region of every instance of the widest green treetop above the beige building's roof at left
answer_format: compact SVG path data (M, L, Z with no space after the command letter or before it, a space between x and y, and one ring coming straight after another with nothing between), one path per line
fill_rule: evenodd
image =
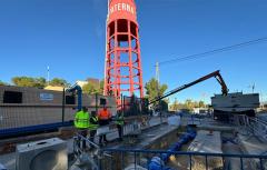
M44 88L47 82L44 78L14 77L12 82L18 87Z

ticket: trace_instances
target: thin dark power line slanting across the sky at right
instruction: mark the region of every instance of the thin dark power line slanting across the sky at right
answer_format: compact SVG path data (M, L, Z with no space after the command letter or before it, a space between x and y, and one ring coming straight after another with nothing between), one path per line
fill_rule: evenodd
M180 62L180 61L199 59L199 58L204 58L206 56L210 56L210 54L214 54L214 53L225 52L225 51L229 51L229 50L234 50L234 49L251 46L251 44L255 44L255 43L260 43L260 42L264 42L264 41L267 41L267 37L260 38L260 39L256 39L256 40L246 41L246 42L241 42L241 43L237 43L237 44L233 44L233 46L228 46L228 47L224 47L224 48L220 48L220 49L215 49L215 50L201 52L201 53L196 53L196 54L190 54L190 56L175 58L175 59L171 59L171 60L159 62L159 64L162 66L162 64L168 64L168 63L174 63L174 62Z

